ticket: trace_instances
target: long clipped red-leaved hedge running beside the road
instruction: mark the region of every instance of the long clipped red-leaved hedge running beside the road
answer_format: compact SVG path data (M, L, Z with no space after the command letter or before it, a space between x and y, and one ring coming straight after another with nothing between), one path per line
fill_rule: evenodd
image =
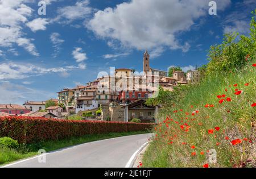
M0 117L0 137L9 136L19 143L38 143L47 140L67 139L88 134L110 132L147 131L152 124L102 122L33 118L27 116Z

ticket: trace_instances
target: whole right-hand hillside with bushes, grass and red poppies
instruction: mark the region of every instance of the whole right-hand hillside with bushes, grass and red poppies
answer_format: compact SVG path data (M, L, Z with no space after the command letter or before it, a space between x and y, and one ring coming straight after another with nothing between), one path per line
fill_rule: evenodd
M144 167L256 167L256 10L250 35L225 35L200 84L159 89L162 105Z

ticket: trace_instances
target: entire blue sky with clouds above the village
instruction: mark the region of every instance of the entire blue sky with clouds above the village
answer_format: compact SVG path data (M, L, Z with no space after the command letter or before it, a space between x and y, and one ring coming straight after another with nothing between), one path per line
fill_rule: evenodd
M208 63L224 33L249 34L254 0L0 0L0 103L57 98L110 67L185 72Z

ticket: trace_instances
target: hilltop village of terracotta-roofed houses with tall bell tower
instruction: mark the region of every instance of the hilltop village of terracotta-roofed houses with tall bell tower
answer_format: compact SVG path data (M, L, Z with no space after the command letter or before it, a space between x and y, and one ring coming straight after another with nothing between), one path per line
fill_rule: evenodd
M83 116L86 120L130 121L137 118L143 122L155 122L159 106L147 106L146 99L153 96L158 86L172 91L179 85L200 80L199 71L189 70L185 74L173 68L168 72L150 66L150 54L143 53L143 73L134 69L114 69L110 76L102 76L86 85L57 92L57 99L47 101L26 101L23 106L0 105L0 116L22 115L45 118L67 118Z

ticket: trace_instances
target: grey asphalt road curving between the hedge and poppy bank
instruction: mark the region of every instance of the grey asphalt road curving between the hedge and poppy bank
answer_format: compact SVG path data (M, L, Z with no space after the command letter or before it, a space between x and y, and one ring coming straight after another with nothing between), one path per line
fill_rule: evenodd
M93 141L73 147L59 149L30 159L17 161L4 167L52 168L52 167L125 167L135 152L148 141L152 134L124 136ZM46 163L42 163L46 159ZM41 163L40 163L40 162Z

